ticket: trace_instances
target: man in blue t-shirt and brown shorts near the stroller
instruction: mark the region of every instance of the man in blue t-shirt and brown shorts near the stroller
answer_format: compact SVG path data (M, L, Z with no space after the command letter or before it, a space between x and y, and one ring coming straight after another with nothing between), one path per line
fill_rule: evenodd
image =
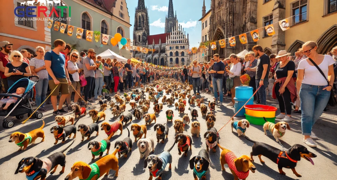
M68 113L62 109L62 105L67 95L69 94L68 85L71 85L68 71L65 67L65 56L60 53L65 48L65 42L61 39L54 41L55 48L48 51L44 55L45 69L48 71L49 87L54 92L51 95L53 105L53 115L57 116L63 113ZM57 108L57 96L61 90L59 107Z

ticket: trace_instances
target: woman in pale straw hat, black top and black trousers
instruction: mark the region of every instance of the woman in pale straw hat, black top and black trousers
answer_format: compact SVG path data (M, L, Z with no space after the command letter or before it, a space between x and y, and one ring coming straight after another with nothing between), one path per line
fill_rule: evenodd
M278 52L277 58L280 58L275 66L275 83L273 86L273 98L278 100L280 107L280 114L276 116L276 119L280 121L290 122L292 114L292 102L296 101L297 93L294 80L292 78L295 71L294 61L289 60L287 57L290 53L287 53L285 50ZM285 115L285 112L287 115Z

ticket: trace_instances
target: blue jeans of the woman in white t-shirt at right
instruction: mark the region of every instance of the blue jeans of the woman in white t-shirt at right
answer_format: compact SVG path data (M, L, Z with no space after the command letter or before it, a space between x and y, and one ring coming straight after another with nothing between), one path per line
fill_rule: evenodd
M327 86L314 86L303 84L300 90L301 109L302 109L302 134L310 136L312 126L322 115L327 106L330 91L323 90Z

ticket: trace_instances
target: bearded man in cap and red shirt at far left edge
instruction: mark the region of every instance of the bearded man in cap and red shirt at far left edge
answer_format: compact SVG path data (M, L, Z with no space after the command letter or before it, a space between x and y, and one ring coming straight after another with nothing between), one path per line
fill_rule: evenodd
M9 43L8 41L2 41L0 42L0 76L1 76L1 85L4 88L4 91L7 92L8 82L7 77L5 76L5 67L7 63L9 62L9 54L13 51L12 43Z

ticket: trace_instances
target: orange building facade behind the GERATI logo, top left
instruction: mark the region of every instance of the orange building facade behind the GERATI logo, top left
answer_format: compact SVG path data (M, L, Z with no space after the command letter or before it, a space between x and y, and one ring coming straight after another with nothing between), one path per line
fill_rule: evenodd
M1 0L0 41L13 43L13 50L26 49L33 54L35 54L37 46L43 47L46 51L51 50L51 34L50 29L47 28L47 21L20 20L15 16L14 9L17 6L22 6L21 3L23 2L26 1ZM34 4L34 6L38 6L38 4ZM19 10L24 11L25 9ZM47 15L49 13L48 10ZM36 14L36 12L32 14Z

